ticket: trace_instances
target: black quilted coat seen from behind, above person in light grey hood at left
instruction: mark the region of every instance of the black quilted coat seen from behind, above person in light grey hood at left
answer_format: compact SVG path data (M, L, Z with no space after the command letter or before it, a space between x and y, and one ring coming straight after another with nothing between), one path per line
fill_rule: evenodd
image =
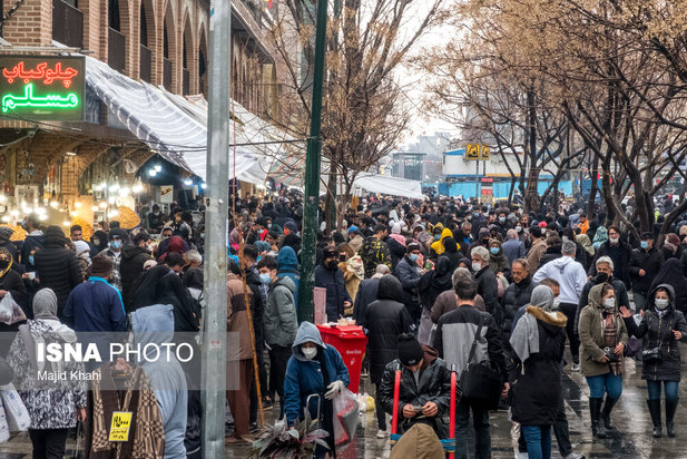
M57 296L57 315L61 318L67 297L73 287L84 282L77 256L62 243L47 242L33 255L36 273L41 289L51 289Z

